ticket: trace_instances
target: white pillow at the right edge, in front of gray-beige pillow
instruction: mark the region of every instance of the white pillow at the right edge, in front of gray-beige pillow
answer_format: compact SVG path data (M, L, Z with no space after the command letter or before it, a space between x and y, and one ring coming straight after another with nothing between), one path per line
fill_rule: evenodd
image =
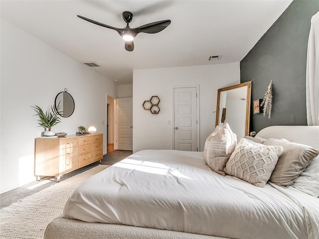
M292 186L304 193L319 198L319 156L308 165Z

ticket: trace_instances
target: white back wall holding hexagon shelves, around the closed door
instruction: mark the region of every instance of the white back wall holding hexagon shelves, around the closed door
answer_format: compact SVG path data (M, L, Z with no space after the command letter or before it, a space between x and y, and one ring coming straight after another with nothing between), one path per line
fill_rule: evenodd
M172 149L172 86L199 85L200 151L215 128L217 90L240 83L239 62L220 65L133 71L133 152ZM160 113L152 115L143 102L160 98Z

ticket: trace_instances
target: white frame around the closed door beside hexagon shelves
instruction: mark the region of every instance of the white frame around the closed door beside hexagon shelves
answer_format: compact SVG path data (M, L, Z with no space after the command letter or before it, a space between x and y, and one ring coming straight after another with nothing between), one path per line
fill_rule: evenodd
M181 85L181 86L172 86L172 90L171 90L171 94L172 94L172 120L171 120L171 148L174 149L175 148L175 130L174 130L174 118L175 118L175 109L174 109L174 103L175 103L175 99L174 99L174 89L178 89L178 88L196 88L196 120L197 120L197 127L196 127L196 131L197 131L197 151L200 150L200 145L199 145L199 85Z

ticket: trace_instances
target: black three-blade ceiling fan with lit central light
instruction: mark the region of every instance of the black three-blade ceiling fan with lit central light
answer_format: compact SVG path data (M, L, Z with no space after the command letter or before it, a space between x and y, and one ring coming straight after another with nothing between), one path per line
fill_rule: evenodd
M117 28L117 27L109 26L109 25L106 25L104 23L89 19L89 18L84 17L84 16L80 16L80 15L77 15L77 16L82 18L82 19L84 19L84 20L86 20L86 21L92 22L94 24L97 24L97 25L100 25L100 26L104 26L106 28L110 28L110 29L116 30L122 36L122 38L125 40L125 49L127 51L133 51L134 50L133 39L140 32L158 33L160 31L164 30L170 24L170 20L162 20L162 21L155 21L155 22L152 22L152 23L148 23L148 24L136 27L136 28L131 28L129 26L129 23L133 19L133 13L129 12L129 11L124 11L122 13L123 19L127 23L126 27L124 27L124 28Z

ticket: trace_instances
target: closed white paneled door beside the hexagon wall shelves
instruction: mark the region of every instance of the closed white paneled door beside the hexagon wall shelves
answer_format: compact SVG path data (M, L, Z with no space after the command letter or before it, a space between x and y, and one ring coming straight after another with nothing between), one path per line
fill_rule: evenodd
M198 151L197 88L174 88L174 149Z

